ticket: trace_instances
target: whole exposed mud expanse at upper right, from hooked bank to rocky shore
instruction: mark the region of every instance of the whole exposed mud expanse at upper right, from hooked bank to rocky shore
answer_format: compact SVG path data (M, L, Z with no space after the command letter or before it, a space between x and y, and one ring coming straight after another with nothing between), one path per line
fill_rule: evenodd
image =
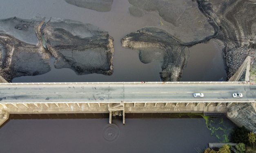
M184 48L209 40L216 42L222 48L228 78L236 72L248 55L252 56L252 66L255 67L255 2L249 0L218 2L129 0L129 2L131 15L141 17L146 13L157 14L161 19L160 28L164 30L142 28L125 36L121 40L122 46L139 50L154 46L165 50L163 72L160 73L162 81L179 81L187 59ZM162 31L162 34L156 31ZM168 38L164 35L168 35ZM148 58L148 55L147 57L143 55L145 54L140 56L142 62Z

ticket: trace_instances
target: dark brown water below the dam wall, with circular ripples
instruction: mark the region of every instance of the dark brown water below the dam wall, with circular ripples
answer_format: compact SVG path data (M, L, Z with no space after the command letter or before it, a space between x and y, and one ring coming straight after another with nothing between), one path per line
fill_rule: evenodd
M234 126L227 118L223 122L229 129ZM127 118L126 125L114 119L114 127L107 123L107 118L9 120L0 129L0 152L196 153L208 142L219 142L203 118Z

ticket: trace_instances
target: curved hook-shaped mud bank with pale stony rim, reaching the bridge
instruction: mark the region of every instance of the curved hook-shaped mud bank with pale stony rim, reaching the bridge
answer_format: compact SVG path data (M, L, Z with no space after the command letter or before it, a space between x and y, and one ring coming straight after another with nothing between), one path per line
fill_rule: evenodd
M136 33L130 33L121 40L122 46L130 49L140 50L140 61L145 61L145 58L154 58L153 52L147 52L149 48L155 47L163 50L163 64L160 77L162 81L178 81L182 75L182 69L185 64L186 53L185 46L179 41L168 35L165 31L159 28L142 28ZM143 52L146 52L143 54ZM148 57L148 54L153 54ZM151 60L149 60L151 61ZM144 62L146 63L146 62Z

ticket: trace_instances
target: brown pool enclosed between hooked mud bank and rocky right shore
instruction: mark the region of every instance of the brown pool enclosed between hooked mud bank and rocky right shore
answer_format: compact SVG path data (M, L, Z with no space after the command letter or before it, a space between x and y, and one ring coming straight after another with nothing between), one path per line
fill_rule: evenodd
M216 42L196 44L187 49L190 58L181 81L226 81L223 53Z

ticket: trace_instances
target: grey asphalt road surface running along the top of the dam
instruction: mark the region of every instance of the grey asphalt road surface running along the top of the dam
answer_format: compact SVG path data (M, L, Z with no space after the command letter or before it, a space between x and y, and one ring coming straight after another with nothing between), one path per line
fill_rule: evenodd
M204 93L194 98L193 93ZM243 98L233 98L240 92ZM0 85L0 103L252 102L256 85L48 84Z

